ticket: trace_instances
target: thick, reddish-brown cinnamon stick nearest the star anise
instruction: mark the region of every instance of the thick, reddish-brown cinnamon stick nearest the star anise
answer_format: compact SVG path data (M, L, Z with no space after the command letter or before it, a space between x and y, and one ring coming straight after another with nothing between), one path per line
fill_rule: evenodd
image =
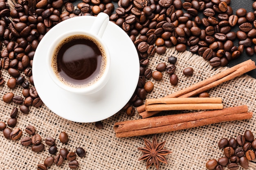
M117 137L149 135L204 126L222 121L252 118L252 113L247 112L247 106L243 105L224 108L222 110L149 117L146 119L117 122L114 125L114 130Z

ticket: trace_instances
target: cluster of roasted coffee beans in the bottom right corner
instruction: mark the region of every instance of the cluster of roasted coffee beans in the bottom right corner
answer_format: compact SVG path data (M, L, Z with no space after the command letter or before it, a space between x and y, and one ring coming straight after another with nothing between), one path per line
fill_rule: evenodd
M224 155L217 159L207 161L206 168L209 170L223 170L227 166L229 170L236 170L239 165L249 168L249 161L254 161L256 155L256 139L250 130L236 138L220 139L218 146L223 149Z

